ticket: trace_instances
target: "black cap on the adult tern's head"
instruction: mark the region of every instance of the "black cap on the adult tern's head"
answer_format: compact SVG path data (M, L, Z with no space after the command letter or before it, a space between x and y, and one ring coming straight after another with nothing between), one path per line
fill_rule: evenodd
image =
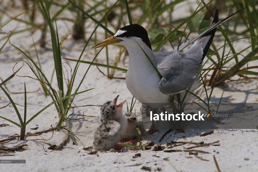
M123 37L135 36L135 37L141 38L143 42L145 42L145 44L151 49L151 43L149 42L148 33L145 30L145 28L143 28L142 26L138 24L131 24L123 28L120 28L119 30L124 30L126 32L124 32L121 35L118 35L118 37L123 38Z

